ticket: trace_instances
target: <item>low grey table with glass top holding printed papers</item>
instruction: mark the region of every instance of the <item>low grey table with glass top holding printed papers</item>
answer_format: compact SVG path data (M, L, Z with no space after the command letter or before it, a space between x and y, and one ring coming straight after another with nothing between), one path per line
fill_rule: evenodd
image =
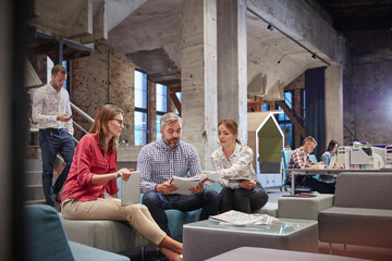
M265 247L318 251L318 225L314 220L280 219L270 225L231 226L216 221L184 225L184 260L205 260L238 247Z

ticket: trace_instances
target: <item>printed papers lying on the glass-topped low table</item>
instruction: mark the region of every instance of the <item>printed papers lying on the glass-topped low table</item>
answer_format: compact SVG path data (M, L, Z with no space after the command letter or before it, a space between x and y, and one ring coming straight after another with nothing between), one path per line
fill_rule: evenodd
M272 223L272 216L266 214L247 214L235 210L230 210L219 215L211 215L209 220L236 226L268 225Z

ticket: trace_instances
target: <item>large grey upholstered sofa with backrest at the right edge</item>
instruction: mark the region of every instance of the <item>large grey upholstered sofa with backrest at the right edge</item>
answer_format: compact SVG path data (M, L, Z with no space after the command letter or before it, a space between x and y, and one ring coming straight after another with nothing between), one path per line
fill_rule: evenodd
M392 248L392 174L340 174L318 221L321 241Z

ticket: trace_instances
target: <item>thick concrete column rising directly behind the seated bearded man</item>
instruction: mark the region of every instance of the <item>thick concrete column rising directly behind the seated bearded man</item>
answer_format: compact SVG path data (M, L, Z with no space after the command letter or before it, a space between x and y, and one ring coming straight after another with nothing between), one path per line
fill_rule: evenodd
M210 156L218 148L216 0L183 0L181 20L182 138L196 147L201 167L212 170Z

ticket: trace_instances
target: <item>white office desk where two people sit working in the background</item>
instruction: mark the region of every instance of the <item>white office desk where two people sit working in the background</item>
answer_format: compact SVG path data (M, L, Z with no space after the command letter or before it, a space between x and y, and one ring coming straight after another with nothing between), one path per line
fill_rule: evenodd
M344 170L344 169L283 169L283 171L289 171L292 174L292 195L295 195L295 175L334 175L341 173L391 173L392 169L381 169L381 170Z

